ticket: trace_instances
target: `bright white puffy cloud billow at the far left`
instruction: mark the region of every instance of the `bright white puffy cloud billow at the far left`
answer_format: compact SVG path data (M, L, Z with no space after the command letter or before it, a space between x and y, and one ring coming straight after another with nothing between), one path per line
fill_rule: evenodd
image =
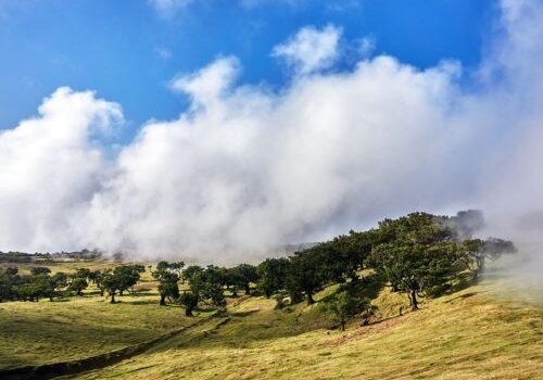
M38 117L0 132L2 249L74 244L70 216L100 190L109 170L92 134L121 119L115 103L60 88Z

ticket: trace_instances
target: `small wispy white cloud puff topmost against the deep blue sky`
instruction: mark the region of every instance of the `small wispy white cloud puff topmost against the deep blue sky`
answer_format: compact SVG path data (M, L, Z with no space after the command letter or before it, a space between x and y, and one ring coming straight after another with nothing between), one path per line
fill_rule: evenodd
M273 55L285 60L300 75L330 67L338 59L341 29L328 25L323 29L306 26L285 43L274 48Z

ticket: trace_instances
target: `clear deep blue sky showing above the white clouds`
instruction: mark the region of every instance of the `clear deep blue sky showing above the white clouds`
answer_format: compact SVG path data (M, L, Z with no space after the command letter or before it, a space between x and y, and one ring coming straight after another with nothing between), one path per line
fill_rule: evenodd
M193 0L169 12L148 0L0 0L0 128L70 86L121 103L130 140L146 121L186 107L167 88L175 75L217 56L239 58L242 83L280 87L288 78L270 52L306 25L333 24L348 41L369 36L374 53L418 67L455 59L469 68L495 14L489 0Z

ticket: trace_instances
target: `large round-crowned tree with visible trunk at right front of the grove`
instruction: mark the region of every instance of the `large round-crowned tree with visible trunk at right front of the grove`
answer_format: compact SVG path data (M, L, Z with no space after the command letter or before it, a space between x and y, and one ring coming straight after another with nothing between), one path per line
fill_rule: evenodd
M379 225L384 237L371 253L376 268L418 308L418 295L444 287L462 268L454 231L431 214L413 213Z

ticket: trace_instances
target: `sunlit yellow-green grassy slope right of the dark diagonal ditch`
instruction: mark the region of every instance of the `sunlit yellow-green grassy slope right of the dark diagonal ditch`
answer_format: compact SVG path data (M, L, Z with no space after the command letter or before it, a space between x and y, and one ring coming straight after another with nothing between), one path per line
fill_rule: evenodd
M274 311L274 301L253 297L230 307L228 319L73 378L541 379L543 308L497 301L495 287L471 287L404 316L402 296L383 290L375 300L380 320L355 321L346 332L328 329L334 322L318 303Z

